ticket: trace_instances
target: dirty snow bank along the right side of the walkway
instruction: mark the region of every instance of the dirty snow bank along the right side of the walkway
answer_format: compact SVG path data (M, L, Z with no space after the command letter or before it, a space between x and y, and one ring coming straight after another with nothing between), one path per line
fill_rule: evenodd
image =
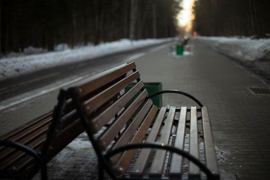
M261 74L270 75L270 39L247 37L197 37L205 44L244 64L254 66Z

